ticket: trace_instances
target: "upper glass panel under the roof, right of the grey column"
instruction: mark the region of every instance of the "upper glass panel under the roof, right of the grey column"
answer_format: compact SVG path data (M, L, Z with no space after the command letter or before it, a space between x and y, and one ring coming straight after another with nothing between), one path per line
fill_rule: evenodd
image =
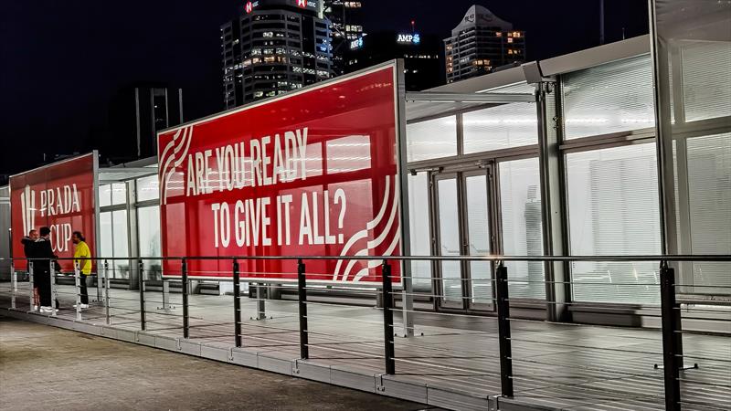
M655 125L649 55L569 73L563 90L567 139Z

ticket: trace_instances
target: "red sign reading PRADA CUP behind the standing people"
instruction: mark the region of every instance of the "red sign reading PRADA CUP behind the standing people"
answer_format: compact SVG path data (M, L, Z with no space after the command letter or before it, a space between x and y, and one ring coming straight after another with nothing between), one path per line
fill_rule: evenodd
M21 238L31 229L49 227L51 248L60 258L71 258L71 234L80 231L95 254L94 154L65 160L10 177L10 220L13 257L25 258ZM72 260L60 260L73 270Z

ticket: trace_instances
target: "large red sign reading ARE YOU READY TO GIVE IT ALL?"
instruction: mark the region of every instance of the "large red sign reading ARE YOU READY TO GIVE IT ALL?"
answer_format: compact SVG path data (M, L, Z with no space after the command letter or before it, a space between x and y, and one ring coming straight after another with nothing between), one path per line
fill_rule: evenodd
M400 255L396 74L375 68L160 133L163 256ZM230 259L187 264L191 277L232 276ZM296 261L239 264L242 279L296 279ZM307 274L367 284L377 267L308 260Z

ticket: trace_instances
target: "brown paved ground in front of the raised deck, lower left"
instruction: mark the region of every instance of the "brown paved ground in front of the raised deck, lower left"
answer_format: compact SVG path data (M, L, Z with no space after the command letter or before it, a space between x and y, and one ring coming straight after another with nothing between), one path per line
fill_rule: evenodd
M417 410L415 403L0 317L0 409Z

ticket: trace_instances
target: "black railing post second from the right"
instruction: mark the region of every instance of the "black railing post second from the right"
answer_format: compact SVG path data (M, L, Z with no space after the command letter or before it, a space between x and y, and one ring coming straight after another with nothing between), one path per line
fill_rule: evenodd
M510 339L510 300L508 299L508 269L501 262L495 272L497 299L497 329L500 343L500 385L503 396L512 397L513 350Z

